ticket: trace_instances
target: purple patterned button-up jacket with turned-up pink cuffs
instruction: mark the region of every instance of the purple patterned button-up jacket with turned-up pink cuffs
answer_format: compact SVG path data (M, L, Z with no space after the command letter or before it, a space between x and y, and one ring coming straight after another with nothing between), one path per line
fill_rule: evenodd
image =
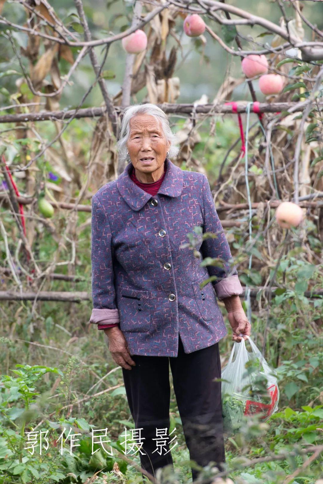
M217 343L228 333L217 297L243 292L206 176L165 161L155 197L131 180L131 163L92 197L90 322L119 322L131 355L177 356L178 334L186 353ZM219 264L181 247L188 233Z

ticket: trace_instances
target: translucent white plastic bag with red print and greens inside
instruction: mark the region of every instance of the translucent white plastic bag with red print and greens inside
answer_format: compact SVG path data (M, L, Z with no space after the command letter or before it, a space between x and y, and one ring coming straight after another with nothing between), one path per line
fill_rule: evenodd
M247 350L244 338L240 342L235 341L228 364L221 372L221 378L228 380L221 383L225 429L236 429L244 415L255 413L259 413L264 422L278 409L277 372L268 366L250 336L248 339L252 351ZM258 364L257 370L251 372L250 369L248 372L245 368L245 364L250 360ZM259 387L259 381L262 378L267 395L261 392L261 385Z

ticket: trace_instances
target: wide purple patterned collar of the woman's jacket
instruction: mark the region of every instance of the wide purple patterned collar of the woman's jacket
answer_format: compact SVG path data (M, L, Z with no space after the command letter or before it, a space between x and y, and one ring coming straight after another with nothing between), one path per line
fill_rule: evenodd
M166 162L166 174L162 181L158 194L168 197L178 197L183 188L183 170L174 165L168 158ZM130 178L132 163L129 162L123 172L117 178L117 189L132 210L140 210L152 197L142 188L136 185Z

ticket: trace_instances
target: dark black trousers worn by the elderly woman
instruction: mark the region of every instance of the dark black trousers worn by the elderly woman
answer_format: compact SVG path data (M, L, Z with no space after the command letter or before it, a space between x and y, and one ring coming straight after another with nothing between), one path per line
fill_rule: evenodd
M221 382L212 381L221 378L219 343L185 353L179 337L176 357L132 355L132 359L136 366L132 366L131 370L122 368L122 373L135 429L142 429L140 435L144 438L140 450L146 455L136 452L136 455L140 455L141 467L154 476L158 468L173 466L171 452L165 454L175 445L177 439L171 439L176 432L178 435L178 429L169 435L170 364L190 459L203 467L212 461L213 466L223 470L221 462L225 462L225 452ZM168 437L168 440L163 440L166 446L162 453L156 445L158 440L162 441L161 437L158 438L160 433L156 435L156 428L164 429ZM176 452L176 448L173 452ZM132 453L137 447L133 449ZM128 457L131 458L131 455ZM194 480L199 471L191 470Z

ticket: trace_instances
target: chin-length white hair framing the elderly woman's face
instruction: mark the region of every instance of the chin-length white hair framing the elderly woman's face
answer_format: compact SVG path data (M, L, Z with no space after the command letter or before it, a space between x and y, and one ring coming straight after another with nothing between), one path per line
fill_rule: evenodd
M166 141L170 141L170 147L168 149L168 158L175 158L178 154L179 147L176 145L176 135L172 133L170 128L168 118L163 110L155 106L154 104L134 104L128 106L123 111L123 117L121 121L120 137L117 142L117 149L119 154L119 160L121 163L125 161L130 161L127 157L127 140L130 135L130 120L132 116L139 114L150 114L154 116L157 120L161 121L162 131L166 137Z

